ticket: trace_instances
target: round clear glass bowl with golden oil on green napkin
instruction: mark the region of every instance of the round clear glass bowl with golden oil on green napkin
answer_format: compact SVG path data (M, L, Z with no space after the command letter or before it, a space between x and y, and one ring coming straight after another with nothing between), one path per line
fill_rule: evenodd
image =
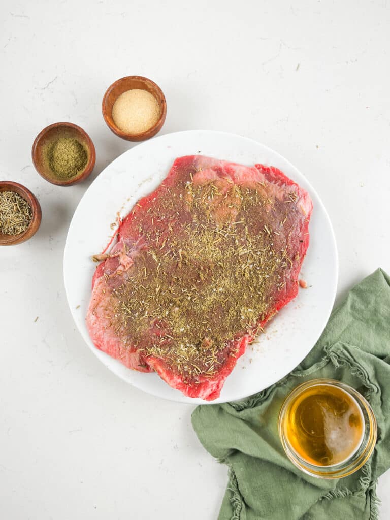
M321 478L346 477L359 470L371 456L377 435L368 401L332 379L315 379L294 388L283 402L278 428L291 462Z

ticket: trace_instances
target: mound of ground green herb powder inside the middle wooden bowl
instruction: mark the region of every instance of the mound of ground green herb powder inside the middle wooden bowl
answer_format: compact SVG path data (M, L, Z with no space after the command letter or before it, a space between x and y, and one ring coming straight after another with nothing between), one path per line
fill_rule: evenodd
M70 178L84 170L88 154L81 142L72 137L56 139L48 149L51 171L58 177Z

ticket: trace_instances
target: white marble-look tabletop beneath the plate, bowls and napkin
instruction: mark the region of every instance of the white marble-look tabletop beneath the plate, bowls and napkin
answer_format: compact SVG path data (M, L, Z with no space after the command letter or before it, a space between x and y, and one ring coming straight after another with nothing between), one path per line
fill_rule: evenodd
M167 98L162 133L238 133L295 164L333 220L340 298L376 267L390 271L389 22L386 0L2 1L0 176L27 185L43 211L31 241L0 250L2 518L208 520L226 484L192 407L116 378L67 307L72 213L132 146L103 122L106 87L149 76ZM46 183L30 157L35 135L61 120L83 126L97 151L92 177L71 188ZM383 519L389 484L387 473Z

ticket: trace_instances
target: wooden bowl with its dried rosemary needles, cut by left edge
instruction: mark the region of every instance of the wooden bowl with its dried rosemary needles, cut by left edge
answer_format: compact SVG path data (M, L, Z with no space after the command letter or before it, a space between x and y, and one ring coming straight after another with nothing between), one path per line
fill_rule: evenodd
M30 190L19 183L0 181L0 245L29 240L41 225L41 206Z

